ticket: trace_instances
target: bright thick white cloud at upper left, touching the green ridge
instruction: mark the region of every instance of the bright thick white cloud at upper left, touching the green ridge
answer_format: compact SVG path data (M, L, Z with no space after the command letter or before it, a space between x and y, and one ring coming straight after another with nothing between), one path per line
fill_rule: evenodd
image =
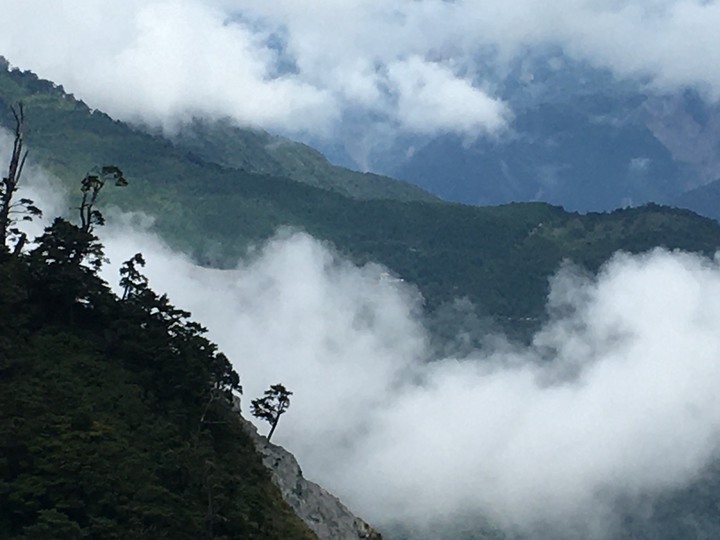
M17 7L14 20L23 22L2 29L0 50L116 117L172 128L193 114L227 115L269 129L323 132L338 114L327 90L292 74L275 76L278 54L265 30L228 22L210 5L32 4Z

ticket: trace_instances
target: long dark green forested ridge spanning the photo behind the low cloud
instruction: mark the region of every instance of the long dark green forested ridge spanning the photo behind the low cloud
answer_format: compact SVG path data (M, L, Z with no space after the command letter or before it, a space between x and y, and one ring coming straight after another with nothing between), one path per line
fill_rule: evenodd
M714 221L654 205L579 215L541 203L473 207L349 198L231 167L240 154L227 156L210 145L221 131L203 139L209 161L91 111L32 73L0 71L0 122L11 124L7 106L18 101L27 112L31 161L73 189L91 167L120 165L133 189L109 194L108 201L150 213L171 245L203 264L232 265L249 244L292 226L334 243L356 262L387 265L415 283L430 308L467 296L515 333L542 316L547 278L564 258L594 270L618 249L662 245L712 253L720 245ZM241 146L230 138L229 148Z

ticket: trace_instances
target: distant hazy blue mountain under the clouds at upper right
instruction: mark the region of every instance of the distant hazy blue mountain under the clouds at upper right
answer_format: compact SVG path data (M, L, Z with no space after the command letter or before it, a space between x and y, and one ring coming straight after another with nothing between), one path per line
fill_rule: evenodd
M446 200L579 211L668 203L718 178L720 108L702 93L660 94L557 51L518 61L496 91L514 113L507 131L415 141L378 170Z

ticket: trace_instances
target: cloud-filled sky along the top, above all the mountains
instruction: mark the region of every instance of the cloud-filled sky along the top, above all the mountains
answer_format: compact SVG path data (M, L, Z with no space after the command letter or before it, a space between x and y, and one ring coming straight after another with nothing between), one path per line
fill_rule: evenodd
M491 72L543 45L655 88L720 95L720 4L708 0L5 4L0 54L13 65L115 117L170 128L230 115L330 137L361 115L378 132L475 137L512 118Z

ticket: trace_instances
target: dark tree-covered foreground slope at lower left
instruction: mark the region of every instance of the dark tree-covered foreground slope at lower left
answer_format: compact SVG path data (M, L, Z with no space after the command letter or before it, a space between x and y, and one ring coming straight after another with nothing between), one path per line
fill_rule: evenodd
M57 218L36 242L0 247L2 537L315 538L243 431L229 360L142 257L118 298L91 231Z

